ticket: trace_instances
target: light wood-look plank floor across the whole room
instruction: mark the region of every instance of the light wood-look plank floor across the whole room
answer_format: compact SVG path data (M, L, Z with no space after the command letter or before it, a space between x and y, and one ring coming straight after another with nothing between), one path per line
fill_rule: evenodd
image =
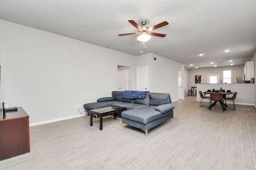
M31 152L0 161L0 170L255 170L256 109L222 112L195 96L173 102L174 118L145 132L122 118L78 117L30 127Z

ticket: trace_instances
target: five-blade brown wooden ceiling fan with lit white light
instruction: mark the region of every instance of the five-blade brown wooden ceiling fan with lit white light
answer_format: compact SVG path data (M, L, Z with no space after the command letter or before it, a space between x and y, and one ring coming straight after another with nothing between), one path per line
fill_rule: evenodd
M147 26L145 26L147 22L142 21L141 22L142 27L140 27L140 25L138 25L138 23L136 23L134 20L128 20L128 22L130 22L134 27L136 27L138 29L138 32L137 33L118 34L118 35L123 36L123 35L132 35L132 34L141 34L137 38L138 42L148 41L151 38L149 35L154 35L154 36L157 36L157 37L165 37L166 34L154 33L154 32L151 32L151 31L169 24L167 21L164 21L164 22L158 23L157 25L154 25L153 27L147 27Z

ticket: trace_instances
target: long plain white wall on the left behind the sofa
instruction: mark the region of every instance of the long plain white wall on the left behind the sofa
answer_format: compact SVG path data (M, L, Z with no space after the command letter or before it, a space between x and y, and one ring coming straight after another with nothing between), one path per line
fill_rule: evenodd
M22 106L30 124L84 113L83 104L111 96L117 66L131 68L135 56L0 20L0 102Z

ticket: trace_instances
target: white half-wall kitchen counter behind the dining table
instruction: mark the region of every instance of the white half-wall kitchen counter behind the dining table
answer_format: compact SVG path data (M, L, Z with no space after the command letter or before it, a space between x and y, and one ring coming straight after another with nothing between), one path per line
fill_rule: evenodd
M199 91L205 92L208 89L224 89L231 90L231 92L237 92L236 104L253 105L255 100L255 84L254 83L237 83L237 84L197 84L196 85L196 101L200 101ZM227 95L231 97L232 95Z

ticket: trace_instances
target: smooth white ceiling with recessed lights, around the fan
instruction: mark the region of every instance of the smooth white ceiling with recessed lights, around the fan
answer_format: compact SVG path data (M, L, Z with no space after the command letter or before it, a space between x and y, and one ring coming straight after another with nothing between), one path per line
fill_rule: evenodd
M241 65L256 51L256 0L0 0L0 19L190 69ZM152 36L145 49L136 34L118 36L138 31L128 20L168 21L153 31L167 35Z

